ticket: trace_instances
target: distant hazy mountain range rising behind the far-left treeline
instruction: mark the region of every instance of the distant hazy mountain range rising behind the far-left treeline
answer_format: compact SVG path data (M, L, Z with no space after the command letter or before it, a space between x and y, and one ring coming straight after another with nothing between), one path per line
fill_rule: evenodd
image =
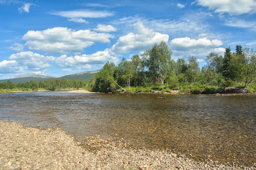
M47 79L67 79L67 80L78 80L78 81L89 81L94 77L94 75L99 72L99 70L96 71L90 71L90 72L80 72L76 74L66 75L59 78L53 77L53 76L43 76L35 73L31 74L22 74L20 76L17 76L15 78L10 79L4 79L0 80L0 83L7 82L8 80L11 81L11 83L18 84L18 83L25 83L30 81L45 81Z

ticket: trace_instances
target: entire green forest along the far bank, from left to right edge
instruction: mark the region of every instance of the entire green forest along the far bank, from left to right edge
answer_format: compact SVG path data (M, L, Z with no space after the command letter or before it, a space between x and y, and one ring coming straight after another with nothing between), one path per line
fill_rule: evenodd
M107 62L90 82L49 79L45 81L0 83L0 89L87 89L92 92L170 92L216 94L227 87L240 89L239 93L252 93L256 89L256 52L248 46L236 46L236 52L226 48L224 56L210 52L202 68L195 56L174 61L165 41L155 44L144 53L123 58L118 65Z

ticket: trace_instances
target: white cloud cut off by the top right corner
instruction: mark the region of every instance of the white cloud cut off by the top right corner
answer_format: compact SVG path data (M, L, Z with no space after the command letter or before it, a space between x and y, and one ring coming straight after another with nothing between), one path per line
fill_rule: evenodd
M255 0L196 0L199 5L215 10L216 13L240 15L256 12Z

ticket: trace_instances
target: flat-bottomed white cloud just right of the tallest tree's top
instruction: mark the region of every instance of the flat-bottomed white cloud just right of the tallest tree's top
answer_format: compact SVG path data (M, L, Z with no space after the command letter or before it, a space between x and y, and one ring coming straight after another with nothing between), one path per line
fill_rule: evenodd
M218 39L209 40L206 37L190 39L189 37L175 38L171 40L171 47L175 50L191 50L195 48L212 48L221 46L223 43Z

